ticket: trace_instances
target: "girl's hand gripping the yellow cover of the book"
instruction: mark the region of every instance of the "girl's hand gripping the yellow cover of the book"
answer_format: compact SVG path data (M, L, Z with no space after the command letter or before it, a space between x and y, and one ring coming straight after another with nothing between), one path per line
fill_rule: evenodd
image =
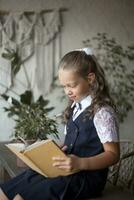
M67 172L79 171L81 166L81 158L75 155L69 155L66 158L63 157L53 157L55 162L53 163L54 167L63 169Z

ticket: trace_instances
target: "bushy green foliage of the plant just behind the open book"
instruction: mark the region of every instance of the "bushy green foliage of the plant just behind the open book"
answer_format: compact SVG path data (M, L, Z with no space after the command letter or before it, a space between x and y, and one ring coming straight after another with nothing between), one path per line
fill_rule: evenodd
M15 120L13 138L23 138L24 140L47 139L48 135L58 138L57 123L48 117L53 107L48 108L48 100L40 96L33 101L30 90L19 95L20 100L3 94L2 97L10 103L9 107L4 107L9 117Z

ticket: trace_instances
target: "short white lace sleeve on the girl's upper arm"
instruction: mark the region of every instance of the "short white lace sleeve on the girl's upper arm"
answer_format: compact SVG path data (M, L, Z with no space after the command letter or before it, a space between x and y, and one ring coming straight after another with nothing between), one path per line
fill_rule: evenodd
M118 123L112 108L102 107L94 116L94 125L102 143L119 141Z

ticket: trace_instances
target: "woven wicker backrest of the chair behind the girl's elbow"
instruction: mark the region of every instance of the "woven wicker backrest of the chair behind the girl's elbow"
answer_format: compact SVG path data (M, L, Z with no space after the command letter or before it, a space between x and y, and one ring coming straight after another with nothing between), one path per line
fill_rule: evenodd
M119 162L110 167L108 181L113 185L129 189L134 195L134 143L122 140L120 152Z

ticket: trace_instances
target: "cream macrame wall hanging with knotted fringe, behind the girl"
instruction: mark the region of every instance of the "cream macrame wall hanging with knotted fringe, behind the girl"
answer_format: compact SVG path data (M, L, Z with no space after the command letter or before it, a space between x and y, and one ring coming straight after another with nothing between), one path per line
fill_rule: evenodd
M0 12L0 93L13 86L20 67L24 68L26 89L36 90L38 95L50 91L60 59L62 10ZM29 77L26 61L33 56L35 64Z

